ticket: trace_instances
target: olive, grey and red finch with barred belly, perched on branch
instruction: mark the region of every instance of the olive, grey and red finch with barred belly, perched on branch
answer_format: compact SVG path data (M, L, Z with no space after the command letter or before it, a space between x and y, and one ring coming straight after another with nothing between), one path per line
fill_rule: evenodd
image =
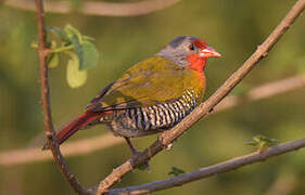
M125 138L131 152L138 154L131 138L169 130L202 102L206 61L219 56L200 38L174 39L104 87L82 115L56 132L58 144L80 129L104 123L114 135ZM50 147L47 142L42 150Z

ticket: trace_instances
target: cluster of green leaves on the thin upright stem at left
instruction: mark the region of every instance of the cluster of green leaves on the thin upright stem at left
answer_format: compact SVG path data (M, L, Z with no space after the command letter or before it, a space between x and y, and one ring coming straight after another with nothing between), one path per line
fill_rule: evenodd
M87 69L98 64L99 52L92 43L94 39L84 36L72 25L66 25L63 29L52 26L47 28L48 66L56 67L62 56L67 56L66 79L71 88L78 88L87 80ZM51 35L54 35L52 37Z

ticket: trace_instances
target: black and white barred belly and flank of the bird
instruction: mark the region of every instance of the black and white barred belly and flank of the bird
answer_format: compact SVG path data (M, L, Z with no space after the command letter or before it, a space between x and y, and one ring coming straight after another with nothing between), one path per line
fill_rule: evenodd
M147 135L174 127L190 114L199 102L199 94L193 90L186 91L180 99L168 103L115 110L107 125L117 135Z

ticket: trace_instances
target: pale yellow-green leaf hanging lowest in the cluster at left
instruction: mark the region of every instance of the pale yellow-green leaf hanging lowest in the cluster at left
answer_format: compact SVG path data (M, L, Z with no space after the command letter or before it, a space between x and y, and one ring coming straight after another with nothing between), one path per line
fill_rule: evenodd
M71 58L67 63L67 83L71 88L78 88L82 86L87 80L87 72L79 70L79 61L77 55L72 52L68 52Z

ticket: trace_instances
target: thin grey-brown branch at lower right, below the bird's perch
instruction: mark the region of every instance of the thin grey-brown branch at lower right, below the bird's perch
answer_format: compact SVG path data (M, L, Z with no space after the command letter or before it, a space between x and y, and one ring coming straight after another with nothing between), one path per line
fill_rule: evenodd
M143 185L128 186L123 188L114 188L109 191L106 194L149 194L151 192L161 191L165 188L170 188L175 186L181 186L186 183L213 177L218 173L228 172L246 165L264 161L270 157L278 156L288 152L296 151L298 148L305 147L305 139L295 140L284 144L280 144L274 147L268 147L263 152L251 153L245 156L237 157L217 165L200 168L195 171L183 173L177 177L168 178L166 180L161 180L152 183L147 183Z

